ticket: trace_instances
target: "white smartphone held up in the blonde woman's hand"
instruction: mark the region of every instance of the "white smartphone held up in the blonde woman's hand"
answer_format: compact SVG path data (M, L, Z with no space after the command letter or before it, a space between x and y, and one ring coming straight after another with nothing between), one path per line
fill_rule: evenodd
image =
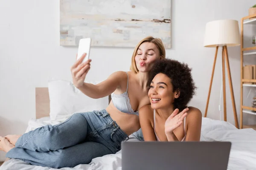
M90 55L90 45L91 45L91 39L90 38L83 38L79 40L79 46L78 46L78 52L77 52L77 60L82 57L84 53L86 53L86 56L84 57L82 62L85 62L89 59Z

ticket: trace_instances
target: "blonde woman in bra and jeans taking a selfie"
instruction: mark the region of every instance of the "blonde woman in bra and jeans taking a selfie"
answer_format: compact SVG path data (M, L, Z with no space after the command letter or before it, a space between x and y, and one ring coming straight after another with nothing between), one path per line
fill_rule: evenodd
M88 164L93 158L116 153L129 135L140 129L139 109L150 104L146 83L155 61L165 58L160 39L146 37L134 49L131 71L117 71L93 85L84 79L90 61L86 54L71 67L73 83L85 95L97 99L112 94L105 110L75 113L58 125L47 125L20 135L0 137L6 157L53 168Z

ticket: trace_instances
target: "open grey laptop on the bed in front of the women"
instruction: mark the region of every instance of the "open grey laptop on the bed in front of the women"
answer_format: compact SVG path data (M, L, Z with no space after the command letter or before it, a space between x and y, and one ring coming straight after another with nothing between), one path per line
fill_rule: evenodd
M227 170L231 142L122 142L122 170Z

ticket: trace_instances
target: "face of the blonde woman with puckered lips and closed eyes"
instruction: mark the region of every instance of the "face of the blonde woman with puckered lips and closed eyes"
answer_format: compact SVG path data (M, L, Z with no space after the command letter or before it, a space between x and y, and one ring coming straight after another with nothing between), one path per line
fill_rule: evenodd
M139 46L135 56L135 62L140 72L150 71L157 59L160 59L160 53L153 42L143 42Z

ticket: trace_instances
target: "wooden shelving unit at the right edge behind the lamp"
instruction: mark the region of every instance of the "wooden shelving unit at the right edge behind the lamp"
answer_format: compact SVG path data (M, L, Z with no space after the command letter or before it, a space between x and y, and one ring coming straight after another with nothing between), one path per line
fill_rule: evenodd
M250 18L256 17L256 14L250 15L247 17L241 18L241 100L240 100L240 129L242 128L253 128L256 130L256 125L243 125L243 113L256 115L256 108L251 108L248 106L243 105L243 88L246 87L256 87L256 84L244 84L244 82L253 82L256 83L256 79L243 79L243 63L244 63L244 56L253 55L256 57L256 46L255 47L248 47L244 48L243 43L243 35L244 35L244 25L245 24L253 24L256 25L256 19L249 20Z

